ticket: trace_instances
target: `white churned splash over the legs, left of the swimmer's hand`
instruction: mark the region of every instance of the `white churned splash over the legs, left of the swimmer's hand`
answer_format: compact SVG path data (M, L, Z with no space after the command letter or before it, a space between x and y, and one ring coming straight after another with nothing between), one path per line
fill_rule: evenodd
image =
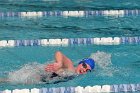
M44 74L44 65L39 63L25 64L21 69L10 72L10 83L35 84L40 83L40 75Z

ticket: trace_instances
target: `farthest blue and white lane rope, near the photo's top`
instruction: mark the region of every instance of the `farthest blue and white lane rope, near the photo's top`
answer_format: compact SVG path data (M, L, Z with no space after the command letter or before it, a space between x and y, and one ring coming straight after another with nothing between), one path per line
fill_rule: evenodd
M89 10L89 11L39 11L39 12L0 12L0 17L45 17L45 16L137 16L140 10Z

